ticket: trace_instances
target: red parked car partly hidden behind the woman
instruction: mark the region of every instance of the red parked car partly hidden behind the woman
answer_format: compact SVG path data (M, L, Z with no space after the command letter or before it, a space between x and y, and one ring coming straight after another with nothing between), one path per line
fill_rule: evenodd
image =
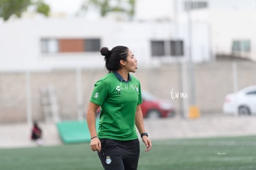
M143 117L154 119L175 116L175 108L169 100L156 98L156 96L147 91L142 91L142 100L143 103L140 104L140 108L142 108ZM100 114L100 108L98 108L96 113Z

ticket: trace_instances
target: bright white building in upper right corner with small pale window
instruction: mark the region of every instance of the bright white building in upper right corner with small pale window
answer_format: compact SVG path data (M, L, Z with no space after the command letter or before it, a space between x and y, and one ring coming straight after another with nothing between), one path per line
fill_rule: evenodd
M137 0L137 20L171 20L177 25L207 23L211 52L256 61L255 0ZM146 4L148 6L146 7ZM190 4L190 5L189 5ZM186 9L192 9L189 13ZM161 10L160 10L161 9Z

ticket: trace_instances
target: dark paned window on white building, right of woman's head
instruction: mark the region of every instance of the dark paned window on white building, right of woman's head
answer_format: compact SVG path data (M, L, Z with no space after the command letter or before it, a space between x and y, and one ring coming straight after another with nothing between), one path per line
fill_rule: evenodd
M184 45L182 40L151 41L151 54L153 57L183 56Z

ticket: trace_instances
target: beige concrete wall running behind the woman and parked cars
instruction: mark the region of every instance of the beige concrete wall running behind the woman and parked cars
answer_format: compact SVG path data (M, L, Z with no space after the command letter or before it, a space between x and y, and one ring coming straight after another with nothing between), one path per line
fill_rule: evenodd
M238 88L256 84L256 67L253 62L237 62ZM181 101L190 100L189 77L184 78L187 85L182 89L180 67L178 64L168 64L150 69L139 69L134 74L140 79L143 90L174 103L177 113L181 111ZM104 69L82 70L82 100L83 112L87 108L93 85L96 80L106 74ZM189 72L187 75L190 75ZM196 64L195 102L201 114L220 113L224 96L233 92L232 62L215 62L212 64ZM43 121L44 116L40 106L40 87L54 85L60 106L60 118L77 119L77 85L75 70L55 70L52 72L31 72L30 85L32 94L32 119ZM171 90L175 93L188 93L189 98L172 100ZM26 109L26 74L0 73L0 122L27 121Z

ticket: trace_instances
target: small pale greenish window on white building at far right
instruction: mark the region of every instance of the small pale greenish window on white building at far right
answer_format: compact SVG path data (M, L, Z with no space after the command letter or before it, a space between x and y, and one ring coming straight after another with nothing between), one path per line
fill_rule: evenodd
M234 40L232 45L233 53L250 53L250 40Z

